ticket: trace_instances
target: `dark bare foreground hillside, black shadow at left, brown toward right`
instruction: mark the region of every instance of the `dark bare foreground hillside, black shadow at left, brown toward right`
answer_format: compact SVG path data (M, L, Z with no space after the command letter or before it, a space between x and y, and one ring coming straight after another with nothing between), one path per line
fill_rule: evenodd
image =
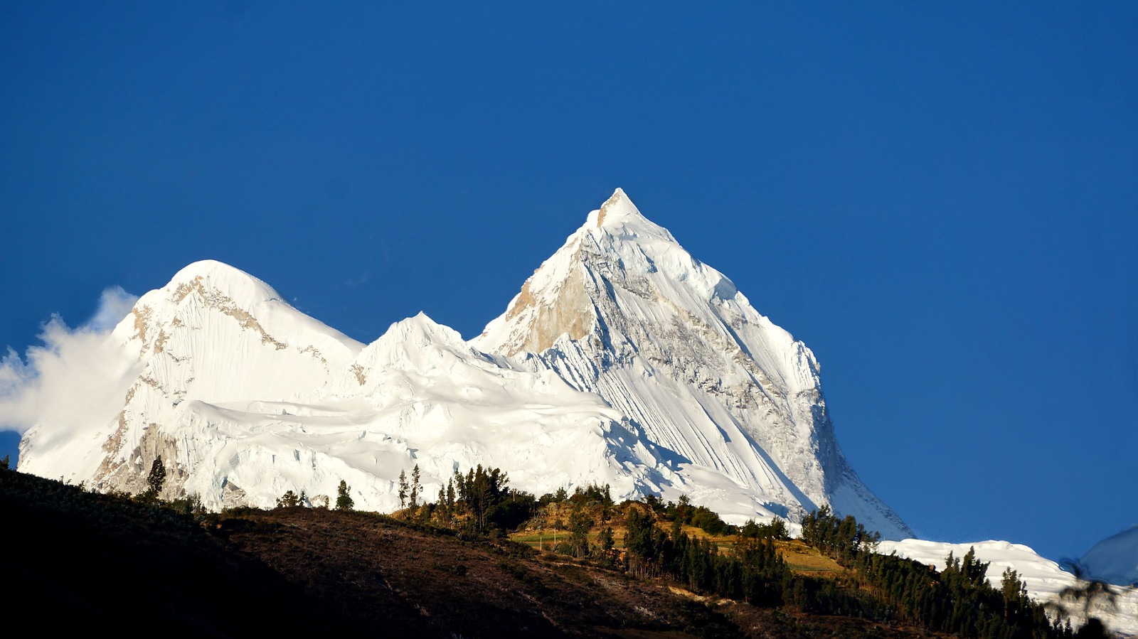
M196 637L939 637L696 597L384 515L190 515L0 470L8 609L39 632Z

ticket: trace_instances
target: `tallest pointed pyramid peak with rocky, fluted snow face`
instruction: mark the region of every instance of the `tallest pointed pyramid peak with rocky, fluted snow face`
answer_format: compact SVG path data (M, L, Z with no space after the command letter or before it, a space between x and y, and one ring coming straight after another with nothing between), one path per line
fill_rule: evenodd
M802 342L617 190L471 343L604 398L703 482L709 505L758 496L797 521L824 504L885 537L912 531L838 446Z

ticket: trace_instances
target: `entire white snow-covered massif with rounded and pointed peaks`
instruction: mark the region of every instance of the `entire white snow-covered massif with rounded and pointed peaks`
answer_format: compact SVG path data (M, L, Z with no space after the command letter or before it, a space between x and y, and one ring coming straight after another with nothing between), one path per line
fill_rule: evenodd
M162 456L167 496L211 507L344 480L389 511L401 471L418 464L434 496L483 464L537 493L687 495L735 523L828 504L909 534L842 456L810 350L620 190L470 342L420 314L364 346L217 262L107 340L122 408L36 424L22 471L139 491Z

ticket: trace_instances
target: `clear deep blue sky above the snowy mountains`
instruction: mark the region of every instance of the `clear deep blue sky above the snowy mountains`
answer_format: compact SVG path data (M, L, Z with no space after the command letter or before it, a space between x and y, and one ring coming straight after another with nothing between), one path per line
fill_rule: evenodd
M924 537L1138 522L1138 6L307 5L0 3L0 348L201 258L470 338L622 186Z

